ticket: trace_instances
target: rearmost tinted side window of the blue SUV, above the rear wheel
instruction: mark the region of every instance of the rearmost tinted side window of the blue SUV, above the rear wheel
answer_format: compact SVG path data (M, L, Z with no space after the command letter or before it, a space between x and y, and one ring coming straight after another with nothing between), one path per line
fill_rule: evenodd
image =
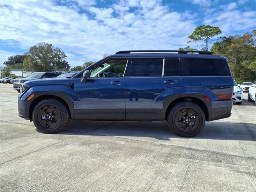
M190 74L192 76L217 76L213 59L190 58Z

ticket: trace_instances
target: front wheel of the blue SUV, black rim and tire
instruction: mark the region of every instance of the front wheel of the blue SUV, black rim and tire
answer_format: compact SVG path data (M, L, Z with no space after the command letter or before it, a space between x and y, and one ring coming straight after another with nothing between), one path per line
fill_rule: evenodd
M68 125L70 114L60 100L44 99L34 107L32 120L40 132L56 133Z

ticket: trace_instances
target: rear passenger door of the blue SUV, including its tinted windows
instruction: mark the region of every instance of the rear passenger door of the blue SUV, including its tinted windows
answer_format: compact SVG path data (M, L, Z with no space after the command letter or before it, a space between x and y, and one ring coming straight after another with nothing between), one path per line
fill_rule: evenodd
M164 100L180 96L179 58L133 58L128 64L126 120L164 120Z

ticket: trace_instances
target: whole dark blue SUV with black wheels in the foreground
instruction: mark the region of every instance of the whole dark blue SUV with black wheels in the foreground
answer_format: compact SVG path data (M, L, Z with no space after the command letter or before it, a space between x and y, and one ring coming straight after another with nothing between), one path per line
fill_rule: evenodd
M231 115L227 59L198 51L120 51L70 79L22 84L19 116L38 130L63 130L70 119L164 121L177 135L198 134L205 121Z

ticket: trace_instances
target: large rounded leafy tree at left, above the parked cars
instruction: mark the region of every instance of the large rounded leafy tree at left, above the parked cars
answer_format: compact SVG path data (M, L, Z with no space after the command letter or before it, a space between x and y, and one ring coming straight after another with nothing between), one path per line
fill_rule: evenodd
M24 69L30 71L52 71L54 69L69 69L64 60L66 54L60 48L54 48L46 42L32 46L24 58ZM62 67L66 68L62 68Z

